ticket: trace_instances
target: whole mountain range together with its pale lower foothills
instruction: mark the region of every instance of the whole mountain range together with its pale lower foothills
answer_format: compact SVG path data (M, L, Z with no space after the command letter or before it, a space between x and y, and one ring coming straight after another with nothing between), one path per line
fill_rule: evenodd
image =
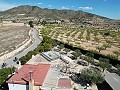
M18 6L7 11L0 12L2 19L23 19L27 17L34 18L50 18L55 20L66 20L75 24L82 25L106 25L106 26L120 26L119 20L109 19L103 16L83 12L81 10L57 10L40 8L37 6L23 5Z

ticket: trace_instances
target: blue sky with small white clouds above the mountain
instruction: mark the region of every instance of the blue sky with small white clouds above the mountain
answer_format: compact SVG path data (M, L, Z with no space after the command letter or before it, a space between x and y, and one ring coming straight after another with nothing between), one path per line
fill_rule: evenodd
M5 11L20 5L59 10L82 10L120 20L120 0L0 0L0 11Z

